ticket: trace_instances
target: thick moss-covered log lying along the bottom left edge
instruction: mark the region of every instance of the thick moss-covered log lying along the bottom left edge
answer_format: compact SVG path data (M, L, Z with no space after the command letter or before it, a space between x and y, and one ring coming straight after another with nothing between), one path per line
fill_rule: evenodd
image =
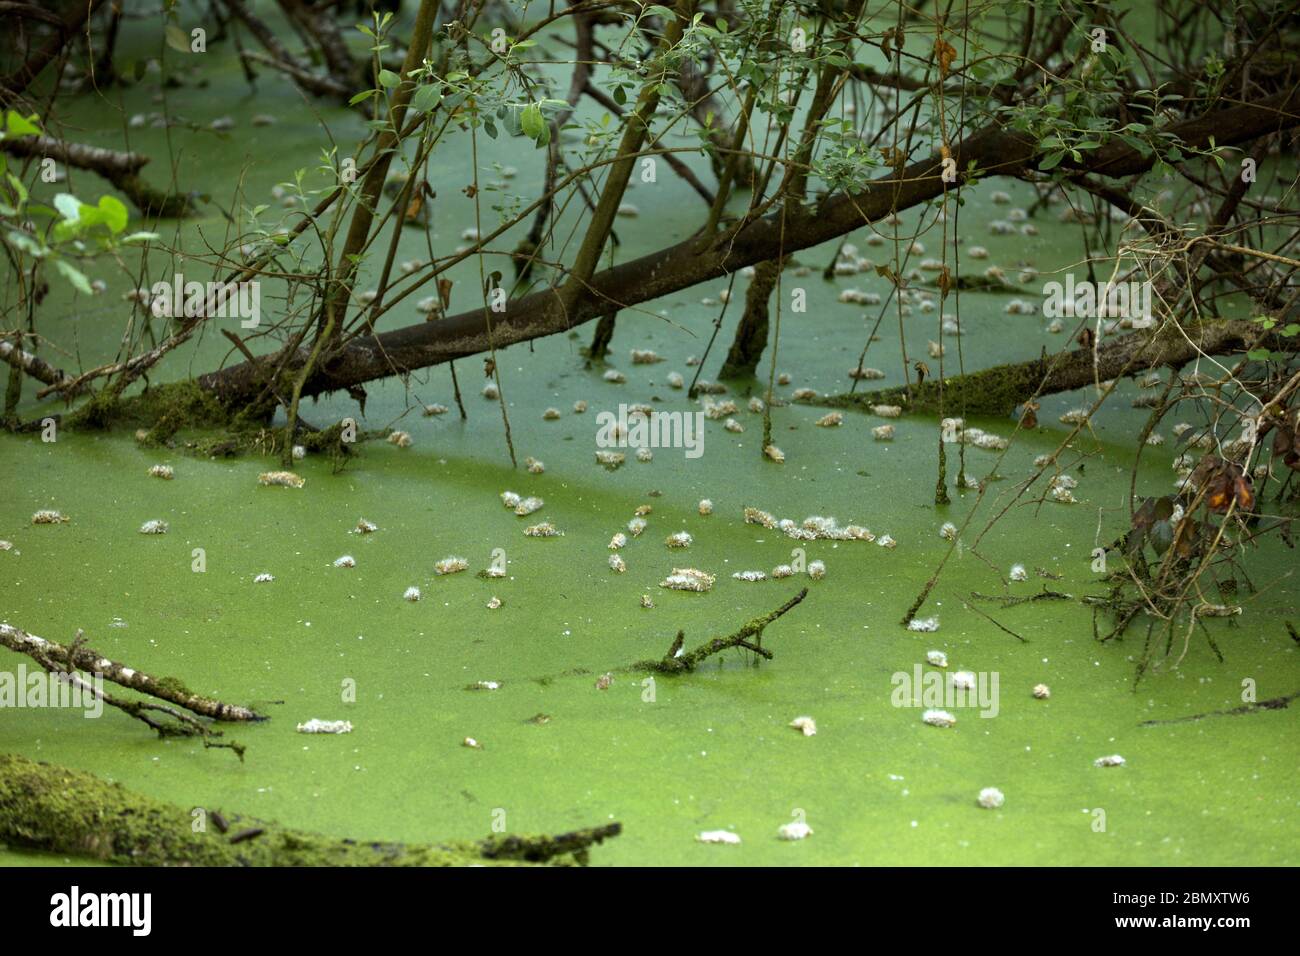
M213 826L195 830L195 821ZM234 832L230 823L240 826ZM585 862L619 823L436 844L350 840L162 803L94 774L0 754L0 843L131 866L474 866Z

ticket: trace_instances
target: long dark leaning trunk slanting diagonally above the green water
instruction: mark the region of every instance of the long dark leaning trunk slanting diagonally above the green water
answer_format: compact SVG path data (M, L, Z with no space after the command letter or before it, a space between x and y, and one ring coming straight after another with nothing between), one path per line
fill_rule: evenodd
M1205 147L1212 137L1218 146L1231 146L1256 139L1280 129L1300 125L1300 88L1226 111L1173 124L1165 130L1188 147ZM1040 144L1031 137L1001 127L974 133L952 147L959 170L956 183L942 178L941 157L933 155L898 173L872 181L861 193L836 195L797 217L783 228L780 216L768 216L718 235L694 235L676 246L597 272L581 289L568 287L575 295L558 308L555 290L543 290L512 300L504 313L493 316L491 334L482 308L471 310L437 323L419 323L376 336L361 336L346 346L324 355L303 384L303 397L346 390L355 385L393 375L429 368L458 358L502 349L543 336L568 332L604 315L641 302L689 289L701 282L772 259L780 252L794 252L844 235L867 222L933 199L944 190L962 186L975 169L980 178L988 176L1032 176L1043 159ZM1144 172L1156 161L1153 152L1119 144L1089 152L1083 169L1105 176L1131 176ZM1062 165L1071 165L1065 163ZM432 281L430 276L425 281ZM415 284L407 293L394 297L393 308L420 289ZM377 317L377 316L376 316ZM1236 328L1228 324L1228 328ZM489 341L490 339L490 341ZM302 369L308 350L295 349L278 354L290 372ZM202 388L213 392L226 405L255 398L261 389L260 372L248 363L209 372L199 378Z

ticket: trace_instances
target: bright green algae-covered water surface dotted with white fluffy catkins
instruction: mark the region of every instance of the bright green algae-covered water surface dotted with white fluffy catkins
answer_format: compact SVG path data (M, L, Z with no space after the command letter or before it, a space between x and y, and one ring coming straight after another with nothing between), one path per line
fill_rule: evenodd
M229 139L203 130L166 134L183 189L208 191L216 206L229 207L242 186L248 203L265 202L276 182L315 165L326 139L290 87L265 77L251 95L233 62L217 57L199 73L209 85L169 91L169 108L200 126L235 116L240 129ZM159 108L147 88L122 92L121 103L117 96L73 101L69 124L86 127L86 142L120 144L121 131L103 127L105 111L121 108L125 121ZM341 142L360 133L355 117L313 109ZM248 129L246 117L255 112L280 122ZM517 165L511 189L536 195L541 153L520 142L481 139L481 174L493 178L494 164ZM161 157L164 131L131 130L131 147ZM160 160L148 170L160 183L165 165ZM473 224L472 203L462 194L471 165L468 139L452 139L430 166L441 251ZM84 176L73 185L84 195L101 189ZM1022 265L1050 273L1083 258L1078 228L1057 222L1052 211L1035 219L1040 235L1032 241L987 234L987 222L1001 215L989 199L998 187L1017 206L1031 202L1027 187L987 183L966 194L961 211L962 234L987 246L992 263L1009 273ZM670 174L638 185L629 200L640 217L620 220L619 259L684 238L703 212ZM216 206L203 207L168 241L220 242L228 224ZM906 228L915 221L915 213L905 216ZM408 232L402 258L426 255L424 237ZM883 259L887 248L868 248L867 233L849 241ZM931 255L940 254L937 230L920 238ZM506 237L500 248L515 241ZM822 267L833 256L833 246L806 250L797 259L812 267L811 276L786 272L783 278L786 295L792 284L807 291L807 312L781 317L776 364L792 381L777 393L785 398L796 388L848 389L846 372L876 311L866 310L864 317L861 306L841 304L837 295L846 287L885 291L875 276L824 282ZM173 264L157 256L153 268L169 274ZM126 317L120 294L136 285L108 261L88 274L104 278L109 293L74 299L57 287L40 317L43 334L69 351L75 347L75 355L58 355L56 363L69 368L112 359ZM455 277L462 287L474 287L477 264L467 263ZM744 284L737 278L705 377L715 376L731 341ZM343 397L306 405L303 415L313 424L352 415L363 427L410 432L412 446L368 444L337 473L330 462L308 458L296 466L303 489L259 486L259 472L276 467L268 459L203 460L179 449L140 449L126 432L60 432L55 442L0 436L0 538L14 544L0 553L0 618L61 641L83 628L91 646L114 659L272 717L226 730L248 748L242 763L228 750L157 740L116 711L90 721L69 710L6 709L0 749L88 770L183 806L222 808L339 836L433 840L481 836L494 826L537 832L620 821L623 835L594 851L597 865L1296 864L1294 708L1144 726L1236 708L1243 682L1253 682L1260 700L1300 689L1300 648L1286 631L1300 593L1292 551L1270 538L1248 555L1261 593L1243 594L1239 618L1208 622L1222 662L1195 636L1176 669L1170 658L1136 691L1144 627L1098 644L1092 614L1078 601L1005 610L978 605L1022 643L965 606L971 592L1028 596L1049 587L1075 598L1102 592L1091 555L1127 520L1132 436L1147 415L1130 407L1138 389L1122 385L1093 432L1082 432L1062 457L1079 479L1078 503L1024 498L1010 507L979 555L963 546L949 561L922 610L937 617L939 630L916 633L900 619L948 549L939 528L961 525L978 497L953 486L956 446L949 446L953 503L933 505L937 419L904 418L894 441L878 442L870 429L880 419L848 412L842 427L816 428L824 410L779 407L774 441L786 460L777 466L759 454L762 418L745 411L746 386L738 384L729 397L741 407L734 418L745 431L707 421L699 458L660 449L649 463L629 454L612 472L595 463L598 412L638 402L698 410L667 377L677 371L689 380L694 369L686 359L705 354L719 308L701 300L716 299L723 287L694 289L620 315L608 365L625 373L625 384L604 381L606 367L586 367L580 346L592 326L577 337L499 352L515 449L520 460L545 462L542 475L511 468L499 408L478 394L477 359L458 364L464 423L445 367L406 384L368 386L364 418ZM1023 297L1040 300L1037 285L1026 286ZM1005 315L1006 299L962 295L967 369L1061 347L1040 315ZM395 312L386 317L393 325L419 320L413 306ZM911 358L924 352L927 339L940 339L937 326L937 313L905 320ZM942 341L950 369L956 339ZM666 360L633 365L632 349L653 349ZM207 371L226 351L225 339L207 333L152 377ZM55 360L56 352L43 354ZM864 364L887 372L883 385L901 381L892 312ZM25 418L58 410L30 401L31 393L29 385ZM576 401L589 405L586 414L572 411ZM1074 394L1043 402L1043 427L1017 437L971 537L1010 501L1034 458L1054 451L1069 433L1058 416L1091 401L1091 394ZM422 416L420 405L432 402L452 411ZM547 407L559 408L560 418L543 420ZM971 424L1005 436L1014 431L1010 419ZM1164 446L1144 450L1139 494L1173 486L1178 449L1166 437ZM978 477L996 460L997 453L966 450L966 467ZM176 479L148 477L155 463L172 464ZM516 518L498 497L507 489L540 496L545 507ZM698 514L701 498L712 501L714 514ZM607 542L640 505L653 506L647 529L620 551L627 572L614 574ZM745 524L746 506L796 520L833 515L841 524L890 535L897 548L792 541ZM32 525L31 514L46 507L70 522ZM361 518L378 531L352 533ZM168 522L169 532L138 533L150 519ZM552 522L563 536L525 537L524 527L540 520ZM688 550L664 546L676 531L693 536ZM731 576L771 571L792 559L794 546L807 561L826 563L823 580ZM202 572L194 570L195 549L203 549ZM497 549L504 551L507 578L476 578ZM344 554L355 567L333 564ZM434 575L434 563L450 555L464 557L469 571ZM1030 570L1028 581L1004 585L1013 563ZM710 593L658 587L685 564L716 574ZM254 584L263 572L274 580ZM650 684L620 670L660 657L679 628L688 646L729 633L805 585L803 604L764 635L763 645L775 653L770 662L755 665L731 652L696 674ZM419 602L403 600L410 587L421 589ZM642 594L654 607L641 606ZM502 601L499 609L486 606L491 597ZM939 728L922 722L919 706L896 706L894 675L913 674L928 650L945 652L949 670L996 674L996 717L958 709L957 724ZM0 650L0 666L21 662ZM612 683L598 689L606 672ZM480 680L500 687L467 689ZM1050 685L1048 700L1031 695L1039 683ZM550 719L533 719L538 714ZM816 721L815 736L788 726L800 715ZM347 719L355 730L294 732L309 718ZM465 737L481 748L464 747ZM1112 753L1126 765L1093 765ZM982 809L976 795L984 787L1000 788L1005 806ZM779 840L777 827L794 819L806 819L814 835ZM733 830L742 843L698 843L696 835L706 830ZM10 849L0 852L0 861L51 858Z

